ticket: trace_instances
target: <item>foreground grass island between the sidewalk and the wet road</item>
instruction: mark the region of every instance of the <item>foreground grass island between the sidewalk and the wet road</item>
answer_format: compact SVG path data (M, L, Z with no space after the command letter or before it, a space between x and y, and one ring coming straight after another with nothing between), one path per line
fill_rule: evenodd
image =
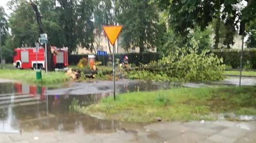
M256 115L256 87L177 88L132 92L102 99L77 111L106 119L152 122L216 120L211 113Z

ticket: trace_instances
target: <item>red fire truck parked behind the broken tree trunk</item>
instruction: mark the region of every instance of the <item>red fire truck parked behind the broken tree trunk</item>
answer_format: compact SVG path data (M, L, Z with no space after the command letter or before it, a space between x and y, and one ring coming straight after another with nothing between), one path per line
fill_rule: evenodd
M62 69L68 66L68 48L52 47L54 51L53 62L55 68ZM45 69L44 48L37 52L37 68ZM18 69L36 69L36 48L15 48L13 52L13 65Z

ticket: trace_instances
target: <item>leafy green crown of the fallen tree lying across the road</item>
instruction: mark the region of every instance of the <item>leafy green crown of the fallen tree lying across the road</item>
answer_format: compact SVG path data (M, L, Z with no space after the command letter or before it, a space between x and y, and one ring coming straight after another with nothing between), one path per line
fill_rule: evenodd
M174 52L158 62L151 62L138 68L126 69L130 79L160 81L216 81L223 79L222 58L209 51L198 52L197 42L191 40L191 47L175 48Z

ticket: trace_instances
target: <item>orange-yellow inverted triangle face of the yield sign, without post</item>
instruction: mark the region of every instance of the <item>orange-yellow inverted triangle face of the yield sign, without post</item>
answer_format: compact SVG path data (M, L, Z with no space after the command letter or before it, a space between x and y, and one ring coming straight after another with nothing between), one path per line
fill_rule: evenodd
M111 45L115 45L116 39L123 29L123 26L103 26Z

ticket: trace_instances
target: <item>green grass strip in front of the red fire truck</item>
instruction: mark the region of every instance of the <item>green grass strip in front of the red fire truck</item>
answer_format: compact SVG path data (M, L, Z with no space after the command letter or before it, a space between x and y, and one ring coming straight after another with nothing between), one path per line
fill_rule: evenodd
M43 85L48 87L60 86L62 83L69 81L69 77L64 72L48 72L46 75L42 71ZM0 69L0 78L12 79L29 84L41 84L41 81L36 80L36 73L34 70L18 70L18 69Z

